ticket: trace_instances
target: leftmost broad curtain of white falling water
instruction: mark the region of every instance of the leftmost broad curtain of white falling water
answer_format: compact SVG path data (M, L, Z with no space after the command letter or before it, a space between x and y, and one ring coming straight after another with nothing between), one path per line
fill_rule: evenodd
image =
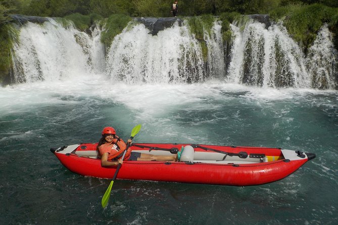
M43 25L27 22L14 45L15 80L55 81L84 76L92 68L100 69L104 48L98 37L92 39L72 25L66 29L53 19Z

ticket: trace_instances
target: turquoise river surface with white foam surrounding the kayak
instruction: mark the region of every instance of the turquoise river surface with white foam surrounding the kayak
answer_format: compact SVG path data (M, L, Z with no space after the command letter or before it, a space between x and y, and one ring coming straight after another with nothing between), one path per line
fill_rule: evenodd
M101 75L0 88L1 224L337 224L338 92L210 81L127 85ZM135 143L281 147L317 157L249 187L110 180L65 168L51 147ZM177 174L179 176L179 174Z

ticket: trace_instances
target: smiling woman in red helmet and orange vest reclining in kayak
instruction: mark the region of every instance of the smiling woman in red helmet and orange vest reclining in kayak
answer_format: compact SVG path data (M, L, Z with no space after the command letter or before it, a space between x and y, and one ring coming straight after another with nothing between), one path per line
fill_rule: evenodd
M131 139L128 140L131 143ZM116 135L116 131L112 127L105 127L102 131L102 138L98 144L99 157L101 157L102 166L112 166L123 163L122 155L126 149L126 143ZM131 152L128 148L124 160L133 161L176 161L175 155L152 155L139 152Z

